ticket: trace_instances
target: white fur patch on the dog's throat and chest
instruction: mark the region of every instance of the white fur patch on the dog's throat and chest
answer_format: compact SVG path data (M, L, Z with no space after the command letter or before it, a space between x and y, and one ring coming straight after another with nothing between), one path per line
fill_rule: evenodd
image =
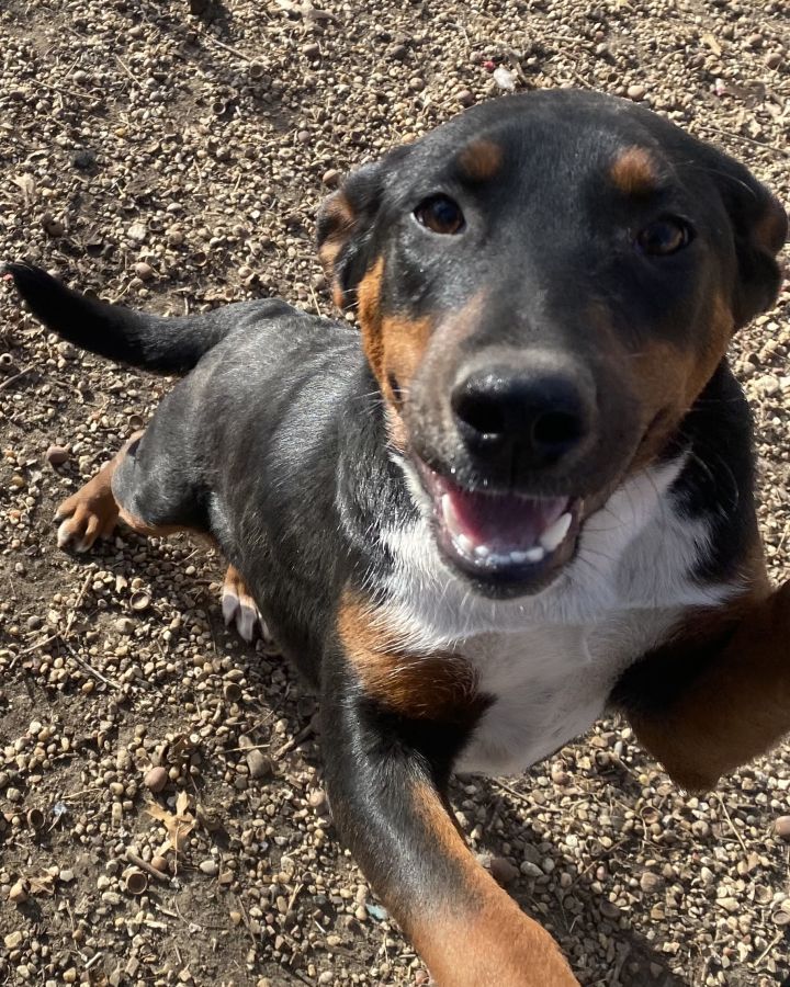
M709 530L672 504L680 458L619 487L587 519L576 557L555 582L516 600L482 597L445 565L427 520L430 503L399 462L420 519L382 532L396 565L379 620L418 653L467 657L481 691L494 696L459 770L521 771L584 733L618 674L664 640L687 608L736 590L690 578Z

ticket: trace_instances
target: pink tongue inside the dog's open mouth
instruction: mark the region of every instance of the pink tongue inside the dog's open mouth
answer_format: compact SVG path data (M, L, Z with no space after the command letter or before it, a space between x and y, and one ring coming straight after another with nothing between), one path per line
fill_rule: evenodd
M463 535L494 553L531 548L568 506L567 497L471 494L443 479L439 487L450 533L455 537Z

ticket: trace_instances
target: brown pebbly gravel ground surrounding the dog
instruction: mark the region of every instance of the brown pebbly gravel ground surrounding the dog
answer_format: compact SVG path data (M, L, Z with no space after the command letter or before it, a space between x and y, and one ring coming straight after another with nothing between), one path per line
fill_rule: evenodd
M282 294L329 313L313 228L339 173L557 86L643 100L790 200L782 2L3 0L0 258L158 311ZM786 285L733 354L776 577L789 350ZM312 697L222 624L222 559L127 532L55 547L56 503L169 386L59 343L0 286L0 978L426 984L335 840ZM790 747L689 798L605 722L453 794L583 984L787 975Z

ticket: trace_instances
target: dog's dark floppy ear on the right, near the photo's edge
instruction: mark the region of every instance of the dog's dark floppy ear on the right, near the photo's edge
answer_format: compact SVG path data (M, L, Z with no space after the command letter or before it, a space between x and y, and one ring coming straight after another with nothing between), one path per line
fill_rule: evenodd
M713 156L711 174L735 241L737 276L732 310L740 328L776 302L781 284L776 256L785 246L788 217L779 200L747 168L721 151Z

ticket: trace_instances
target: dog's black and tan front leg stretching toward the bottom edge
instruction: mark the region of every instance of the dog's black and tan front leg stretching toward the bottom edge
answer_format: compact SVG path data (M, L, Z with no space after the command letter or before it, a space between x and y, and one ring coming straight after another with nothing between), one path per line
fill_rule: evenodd
M354 633L346 621L323 670L342 840L441 987L574 987L552 937L475 861L450 816L452 760L481 708L462 662L395 654L374 621Z

